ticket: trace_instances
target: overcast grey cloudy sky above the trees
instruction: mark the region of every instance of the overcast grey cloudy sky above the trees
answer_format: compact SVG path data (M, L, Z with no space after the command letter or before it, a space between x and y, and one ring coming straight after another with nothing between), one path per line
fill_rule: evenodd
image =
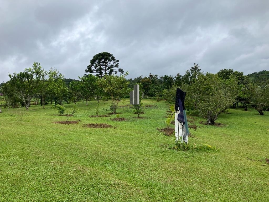
M109 52L127 78L269 70L269 1L0 0L0 83L40 62L65 78Z

